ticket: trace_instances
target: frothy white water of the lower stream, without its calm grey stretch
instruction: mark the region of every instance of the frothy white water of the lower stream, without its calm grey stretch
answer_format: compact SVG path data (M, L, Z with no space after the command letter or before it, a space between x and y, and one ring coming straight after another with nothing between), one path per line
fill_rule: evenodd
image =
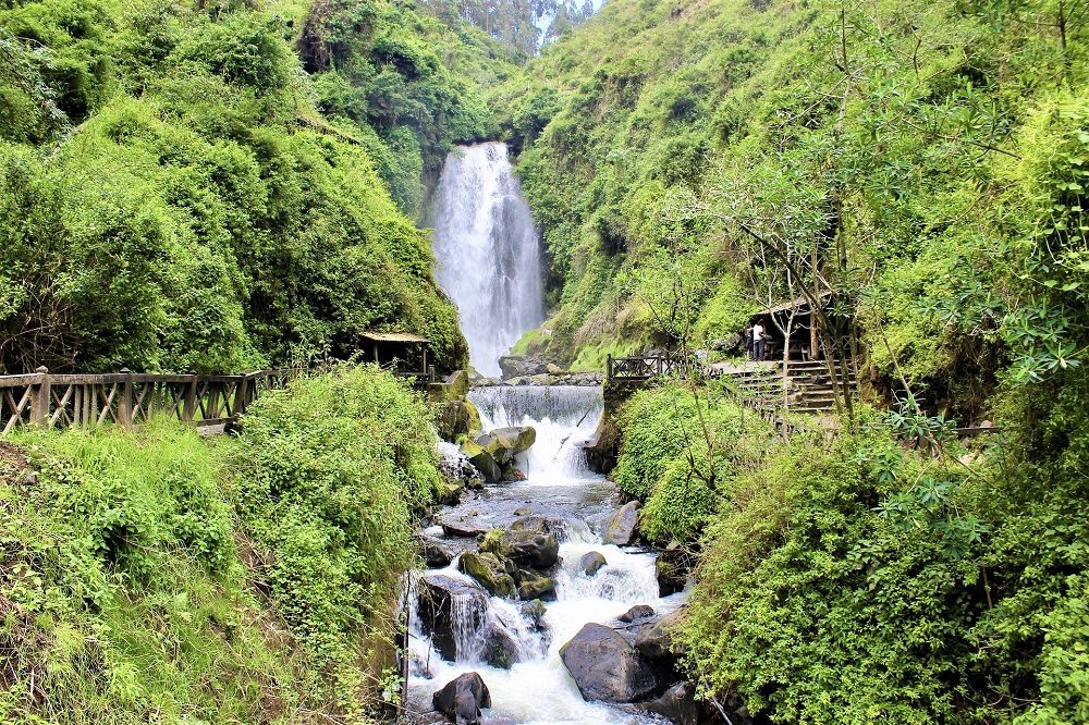
M600 389L494 386L475 389L469 397L480 411L485 430L506 426L533 426L537 430L537 442L530 455L519 462L528 480L504 489L510 495L526 495L519 493L524 487L558 483L571 486L575 491L578 486L602 480L587 469L578 445L592 434L601 415ZM583 555L591 551L601 553L607 564L595 576L587 577L578 564ZM414 676L409 686L430 695L461 674L477 672L491 692L492 708L485 713L486 723L646 725L661 722L650 715L635 715L608 704L584 701L560 659L560 648L587 623L609 623L635 604L650 604L658 612L669 612L680 604L682 597L659 597L653 554L602 544L601 538L582 520L566 521L560 557L562 562L554 572L556 601L547 605L544 615L549 629L547 650L517 603L492 597L486 617L511 634L518 644L519 661L510 669L480 662L481 641L476 637L475 613L458 612L454 618L461 629L468 624L468 631L457 635L456 662L444 662L427 637L415 629L412 639L415 658L429 663L431 678ZM455 560L439 573L466 580L456 566Z

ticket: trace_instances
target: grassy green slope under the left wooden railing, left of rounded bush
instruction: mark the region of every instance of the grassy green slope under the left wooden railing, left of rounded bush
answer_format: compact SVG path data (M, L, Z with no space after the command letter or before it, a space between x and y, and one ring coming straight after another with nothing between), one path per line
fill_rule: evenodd
M0 721L326 709L248 590L222 469L195 431L156 421L16 440L0 442Z

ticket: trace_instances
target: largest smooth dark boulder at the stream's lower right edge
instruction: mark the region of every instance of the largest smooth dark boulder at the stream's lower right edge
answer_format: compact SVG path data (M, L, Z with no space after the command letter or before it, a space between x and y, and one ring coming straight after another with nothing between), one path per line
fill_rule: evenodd
M601 624L579 629L560 658L586 700L638 702L658 688L653 667L620 632Z

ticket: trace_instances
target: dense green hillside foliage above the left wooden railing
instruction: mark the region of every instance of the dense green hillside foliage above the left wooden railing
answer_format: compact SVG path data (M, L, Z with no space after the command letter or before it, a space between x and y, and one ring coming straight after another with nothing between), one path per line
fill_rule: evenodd
M344 355L381 328L464 358L429 239L379 179L418 186L418 164L318 114L293 24L0 9L0 369L233 371Z

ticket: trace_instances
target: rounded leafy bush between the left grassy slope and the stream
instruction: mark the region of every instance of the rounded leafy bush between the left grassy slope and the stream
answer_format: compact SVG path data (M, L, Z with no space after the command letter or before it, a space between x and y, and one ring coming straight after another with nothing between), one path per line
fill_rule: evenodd
M351 709L388 654L414 507L439 482L426 404L377 368L338 367L262 395L232 445L242 526L292 634Z

